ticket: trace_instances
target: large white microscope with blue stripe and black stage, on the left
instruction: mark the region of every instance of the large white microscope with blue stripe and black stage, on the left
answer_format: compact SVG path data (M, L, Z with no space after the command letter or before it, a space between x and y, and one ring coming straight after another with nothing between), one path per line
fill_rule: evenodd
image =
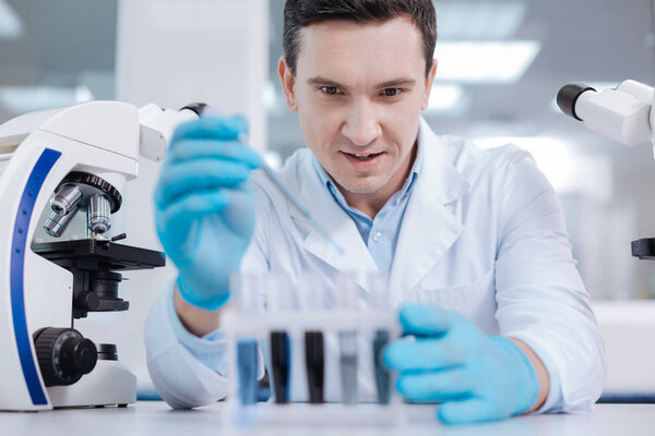
M74 322L127 311L121 272L165 265L160 252L118 243L127 237L112 218L139 157L162 160L175 126L196 117L91 101L0 125L0 410L136 400L116 346L94 343ZM67 239L75 217L84 234Z

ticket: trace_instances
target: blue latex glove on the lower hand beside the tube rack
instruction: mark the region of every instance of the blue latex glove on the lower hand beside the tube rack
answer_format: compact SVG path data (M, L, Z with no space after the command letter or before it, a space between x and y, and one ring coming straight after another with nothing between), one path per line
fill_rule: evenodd
M384 351L400 372L396 389L413 402L441 402L446 424L493 421L520 414L537 400L532 363L509 339L487 336L463 315L433 305L405 305L406 335Z

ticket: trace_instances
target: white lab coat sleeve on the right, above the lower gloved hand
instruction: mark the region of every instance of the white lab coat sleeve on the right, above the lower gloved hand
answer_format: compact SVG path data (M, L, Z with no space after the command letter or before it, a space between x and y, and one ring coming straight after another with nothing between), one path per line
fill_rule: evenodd
M531 347L549 373L539 412L591 411L605 382L605 348L561 206L529 154L514 153L505 169L496 259L500 332Z

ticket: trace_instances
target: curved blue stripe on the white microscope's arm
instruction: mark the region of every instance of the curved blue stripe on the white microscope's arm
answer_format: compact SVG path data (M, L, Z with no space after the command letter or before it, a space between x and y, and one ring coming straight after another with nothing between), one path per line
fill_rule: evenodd
M27 184L21 196L21 204L16 213L16 220L13 227L13 241L11 245L11 313L13 317L14 335L19 349L19 358L23 367L23 376L32 397L34 405L45 405L48 403L44 387L38 379L36 363L32 356L32 338L27 331L27 320L25 319L25 289L23 283L25 268L25 250L27 249L27 230L29 220L34 211L34 204L38 193L46 180L46 177L52 169L52 166L61 156L61 152L46 148L41 153L38 161L32 169Z

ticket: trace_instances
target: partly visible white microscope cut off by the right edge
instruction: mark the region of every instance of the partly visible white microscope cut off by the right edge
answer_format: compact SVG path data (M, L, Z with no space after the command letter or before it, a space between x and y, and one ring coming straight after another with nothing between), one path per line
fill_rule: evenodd
M655 156L654 96L652 86L632 80L603 92L584 84L569 84L559 90L557 104L587 129L629 147L650 140ZM655 238L632 241L632 255L655 259Z

